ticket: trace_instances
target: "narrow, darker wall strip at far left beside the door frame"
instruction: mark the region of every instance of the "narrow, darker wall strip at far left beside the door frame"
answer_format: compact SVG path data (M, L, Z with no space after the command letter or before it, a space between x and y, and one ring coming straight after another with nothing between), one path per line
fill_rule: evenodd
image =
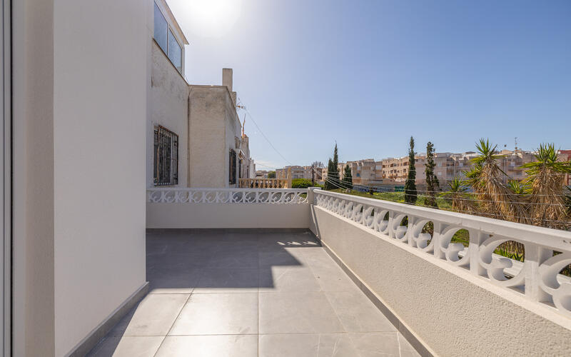
M54 2L12 6L12 352L53 356Z

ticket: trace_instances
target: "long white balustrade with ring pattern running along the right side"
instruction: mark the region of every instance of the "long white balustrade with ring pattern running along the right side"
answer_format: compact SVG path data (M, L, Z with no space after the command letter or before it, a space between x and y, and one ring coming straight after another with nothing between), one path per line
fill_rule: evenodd
M560 274L571 264L571 232L343 193L313 192L315 206L571 317L571 278ZM408 226L401 225L403 218L408 219ZM432 235L422 233L428 222L434 226ZM451 243L461 229L469 233L468 248ZM494 253L507 241L524 246L523 263ZM554 255L554 251L559 253Z

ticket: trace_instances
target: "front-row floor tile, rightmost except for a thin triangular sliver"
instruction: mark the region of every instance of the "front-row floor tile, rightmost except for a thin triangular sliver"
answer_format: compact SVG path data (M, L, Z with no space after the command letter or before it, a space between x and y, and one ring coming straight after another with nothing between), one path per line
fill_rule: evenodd
M399 357L396 332L350 333L360 357Z

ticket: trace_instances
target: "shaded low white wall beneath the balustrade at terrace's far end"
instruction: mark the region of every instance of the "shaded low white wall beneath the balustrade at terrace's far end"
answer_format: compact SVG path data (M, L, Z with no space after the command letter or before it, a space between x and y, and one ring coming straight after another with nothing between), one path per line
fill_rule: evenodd
M147 228L308 228L308 204L147 203Z

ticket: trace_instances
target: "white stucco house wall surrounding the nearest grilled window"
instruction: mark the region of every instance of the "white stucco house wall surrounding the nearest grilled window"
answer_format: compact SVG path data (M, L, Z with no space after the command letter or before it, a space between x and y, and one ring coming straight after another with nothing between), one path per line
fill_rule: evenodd
M188 84L161 48L153 41L151 81L148 82L149 111L146 129L146 186L153 187L154 129L161 125L178 135L178 184L188 186Z

